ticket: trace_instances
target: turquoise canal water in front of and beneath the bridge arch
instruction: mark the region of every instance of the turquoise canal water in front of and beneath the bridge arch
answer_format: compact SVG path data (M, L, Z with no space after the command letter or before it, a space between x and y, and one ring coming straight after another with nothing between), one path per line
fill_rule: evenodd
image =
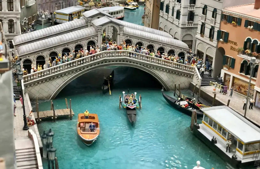
M114 70L112 95L102 94L103 74ZM142 95L142 109L137 111L134 127L125 109L119 109L122 91ZM55 133L59 168L166 169L193 168L200 160L206 169L230 168L218 155L190 132L191 117L172 108L162 97L161 85L148 73L130 67L109 67L78 77L53 100L55 109L66 108L65 98L72 100L75 116L63 120L42 121L40 133ZM173 96L172 92L167 92ZM77 114L85 110L97 113L100 135L91 146L80 141L76 132ZM50 110L50 101L39 104ZM44 168L47 161L43 159Z

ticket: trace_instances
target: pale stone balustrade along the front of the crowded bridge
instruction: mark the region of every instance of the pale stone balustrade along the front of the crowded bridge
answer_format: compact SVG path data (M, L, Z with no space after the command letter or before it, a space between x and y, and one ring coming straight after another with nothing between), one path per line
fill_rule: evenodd
M155 66L160 65L163 67L182 70L182 71L189 72L189 73L194 73L194 74L196 73L195 67L193 67L193 66L184 65L184 64L177 63L177 62L173 62L173 61L168 61L168 60L153 57L150 55L145 55L145 54L136 53L136 52L130 52L128 50L106 50L106 51L95 53L93 55L85 56L85 57L82 57L79 59L75 59L73 61L62 63L60 65L56 65L56 66L53 66L53 67L50 67L47 69L43 69L41 71L37 71L34 73L30 73L28 75L25 75L25 76L23 76L24 84L26 84L30 81L34 81L36 79L41 79L43 77L50 76L55 73L59 73L64 70L74 69L75 67L86 65L93 61L97 61L97 60L101 60L101 59L105 59L105 58L113 58L113 57L114 58L126 57L126 58L130 58L133 60L150 62L150 63L154 64ZM198 76L198 78L199 77L200 76ZM199 80L199 79L197 79L197 80Z

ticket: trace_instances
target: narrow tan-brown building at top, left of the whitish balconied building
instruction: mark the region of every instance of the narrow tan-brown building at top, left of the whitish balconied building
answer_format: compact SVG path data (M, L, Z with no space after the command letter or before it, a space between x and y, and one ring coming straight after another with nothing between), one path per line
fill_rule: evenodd
M146 0L144 26L158 29L160 0Z

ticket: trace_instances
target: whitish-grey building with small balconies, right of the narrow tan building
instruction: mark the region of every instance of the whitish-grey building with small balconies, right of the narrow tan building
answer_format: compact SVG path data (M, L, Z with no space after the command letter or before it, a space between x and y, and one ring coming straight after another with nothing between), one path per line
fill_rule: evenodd
M195 49L200 0L161 0L159 30Z

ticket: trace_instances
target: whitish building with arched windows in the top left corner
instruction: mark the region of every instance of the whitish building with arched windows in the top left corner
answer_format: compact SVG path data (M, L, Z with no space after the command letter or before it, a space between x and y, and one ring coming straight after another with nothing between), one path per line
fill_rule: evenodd
M12 40L21 34L19 0L0 1L0 22L10 49L14 49Z

